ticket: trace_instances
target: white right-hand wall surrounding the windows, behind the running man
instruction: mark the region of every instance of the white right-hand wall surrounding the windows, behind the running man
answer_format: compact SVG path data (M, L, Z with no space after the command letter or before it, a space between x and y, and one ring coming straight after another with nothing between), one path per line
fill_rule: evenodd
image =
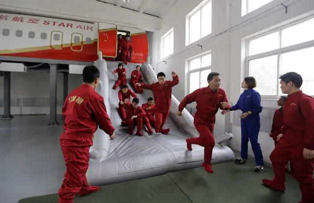
M236 102L241 93L240 83L245 77L245 64L243 63L245 57L244 37L264 32L267 29L314 13L313 0L273 0L267 5L241 17L241 0L212 0L212 34L185 47L186 15L201 1L179 0L165 16L162 21L162 28L154 36L159 44L157 56L154 56L155 67L158 71L164 71L168 78L170 78L172 70L177 72L180 77L180 83L173 89L173 94L179 101L187 93L186 59L211 50L212 71L221 73L222 88L226 90L229 102ZM285 14L284 6L277 6L281 3L285 3L288 6L287 14ZM172 27L174 29L174 53L166 58L166 65L165 63L159 63L162 61L160 59L160 37ZM233 29L225 34L213 37L228 28ZM213 38L201 43L210 37ZM198 43L203 45L203 50L200 50L200 47L193 47ZM180 52L183 53L179 54ZM276 107L276 100L262 100L262 105L263 107ZM218 113L215 136L227 131L228 127L228 117L224 118ZM230 147L240 151L240 128L233 125L230 127L230 132L234 135L234 138L230 141ZM259 141L264 160L270 163L269 155L274 148L274 143L268 134L262 132L259 134ZM250 156L254 156L251 148L249 149L249 154Z

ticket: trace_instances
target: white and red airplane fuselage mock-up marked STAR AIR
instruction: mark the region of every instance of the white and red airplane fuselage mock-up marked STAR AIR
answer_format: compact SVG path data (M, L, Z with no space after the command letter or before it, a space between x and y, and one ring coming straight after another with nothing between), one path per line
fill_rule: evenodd
M84 64L96 61L98 51L102 51L106 60L114 61L118 34L131 36L134 53L130 63L146 62L148 39L143 30L101 22L0 13L0 60Z

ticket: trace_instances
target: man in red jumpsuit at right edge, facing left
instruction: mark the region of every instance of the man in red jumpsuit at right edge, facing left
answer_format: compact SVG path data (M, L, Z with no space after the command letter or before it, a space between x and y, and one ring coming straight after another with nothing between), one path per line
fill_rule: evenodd
M292 176L299 182L302 192L299 203L314 203L314 99L300 90L303 83L300 74L287 72L280 79L280 88L288 97L279 143L270 154L275 177L262 182L267 187L284 191L285 167L291 160Z

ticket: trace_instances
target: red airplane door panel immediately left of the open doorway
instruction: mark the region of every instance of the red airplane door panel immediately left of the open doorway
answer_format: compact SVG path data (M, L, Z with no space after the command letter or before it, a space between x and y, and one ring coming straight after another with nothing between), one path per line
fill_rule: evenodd
M117 28L114 24L98 23L98 51L103 57L116 57ZM97 51L97 53L98 53Z

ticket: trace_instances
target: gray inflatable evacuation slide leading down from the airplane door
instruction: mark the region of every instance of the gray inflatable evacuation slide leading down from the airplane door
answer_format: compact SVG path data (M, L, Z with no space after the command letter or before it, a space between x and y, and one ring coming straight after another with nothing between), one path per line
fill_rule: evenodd
M131 72L138 64L128 64L126 68L127 85L132 89L129 81ZM117 68L118 62L106 62L99 53L99 60L95 66L100 69L101 85L96 90L105 99L107 112L115 128L115 138L98 129L95 133L94 145L90 148L89 168L86 173L89 184L107 185L128 180L140 179L161 175L168 172L200 167L204 161L204 149L198 145L192 145L193 150L186 149L185 139L199 136L193 124L193 116L186 110L183 115L176 115L179 102L171 98L171 111L165 128L170 128L168 135L148 135L143 125L143 136L129 135L127 127L121 126L121 117L118 109L118 89L113 90L117 74L112 72ZM147 84L157 82L157 76L149 64L142 64L141 72L143 80ZM183 75L179 75L179 78ZM171 80L172 78L166 77ZM174 87L175 88L175 87ZM133 89L132 89L133 90ZM137 94L140 105L147 102L147 98L153 97L150 90L144 90ZM132 97L131 97L132 100ZM136 128L136 127L135 127ZM134 131L134 134L136 129ZM217 137L213 150L212 164L218 164L234 160L234 154L228 146L221 143L232 138L232 134Z

